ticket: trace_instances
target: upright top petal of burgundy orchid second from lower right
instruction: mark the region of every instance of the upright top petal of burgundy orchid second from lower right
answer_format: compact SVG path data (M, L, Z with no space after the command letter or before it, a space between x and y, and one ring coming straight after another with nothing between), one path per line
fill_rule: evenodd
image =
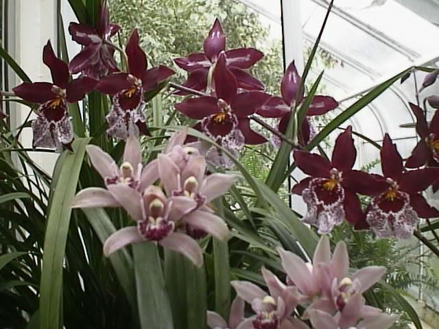
M352 126L349 125L335 140L332 164L340 171L347 171L354 167L356 158L357 149L352 138Z

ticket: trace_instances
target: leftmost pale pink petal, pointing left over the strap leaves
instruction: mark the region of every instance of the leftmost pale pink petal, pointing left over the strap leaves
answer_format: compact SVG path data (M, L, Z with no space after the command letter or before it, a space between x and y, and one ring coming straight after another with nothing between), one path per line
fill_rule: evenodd
M119 203L105 188L88 187L79 191L73 198L71 208L117 207Z

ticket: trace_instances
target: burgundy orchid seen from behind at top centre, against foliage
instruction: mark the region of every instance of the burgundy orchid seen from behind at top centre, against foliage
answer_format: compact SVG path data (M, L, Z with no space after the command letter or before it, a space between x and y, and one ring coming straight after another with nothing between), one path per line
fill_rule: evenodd
M174 62L189 73L183 86L195 90L204 90L208 85L209 71L215 69L219 53L226 49L226 36L218 19L213 23L209 35L204 39L204 53L191 53L185 58L176 58ZM235 75L238 88L246 90L263 90L264 86L252 77L246 69L263 58L263 53L254 48L239 48L226 51L226 65ZM210 91L210 90L209 90ZM185 93L179 92L179 95Z

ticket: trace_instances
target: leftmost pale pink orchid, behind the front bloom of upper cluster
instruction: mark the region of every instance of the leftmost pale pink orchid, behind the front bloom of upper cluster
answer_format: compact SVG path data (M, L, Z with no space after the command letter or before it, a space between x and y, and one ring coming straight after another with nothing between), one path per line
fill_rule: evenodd
M154 164L147 164L142 169L141 148L139 141L130 136L123 151L123 162L117 166L110 154L102 151L95 145L87 145L86 152L91 164L101 175L106 187L113 184L129 186L136 191L143 191L157 180ZM96 207L117 207L120 206L106 188L88 187L80 191L73 199L73 208L96 208Z

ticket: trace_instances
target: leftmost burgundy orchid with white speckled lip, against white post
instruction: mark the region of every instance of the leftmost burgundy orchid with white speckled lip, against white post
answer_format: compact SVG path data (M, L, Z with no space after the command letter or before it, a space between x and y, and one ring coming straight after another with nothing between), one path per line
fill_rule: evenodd
M56 58L54 49L47 42L43 49L43 62L49 67L53 83L24 82L16 86L15 95L25 101L38 103L38 117L32 121L34 147L70 149L73 141L73 127L67 110L67 103L75 103L90 93L97 84L91 77L71 80L69 68Z

